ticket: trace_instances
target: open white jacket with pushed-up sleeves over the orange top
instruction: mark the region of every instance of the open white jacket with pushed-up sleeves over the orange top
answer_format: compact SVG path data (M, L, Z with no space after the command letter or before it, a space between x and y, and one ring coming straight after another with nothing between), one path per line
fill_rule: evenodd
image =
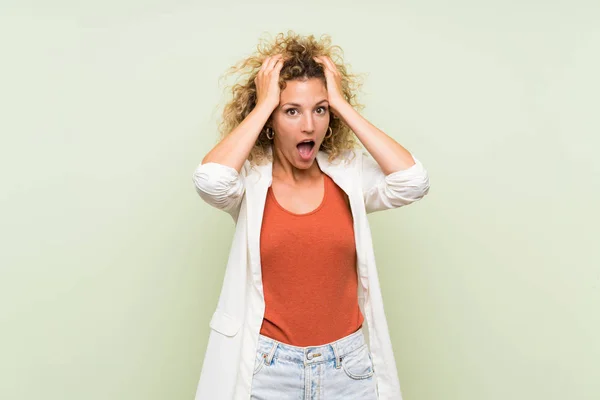
M272 150L271 150L272 154ZM354 220L359 277L359 307L365 317L363 332L373 358L380 400L401 400L400 382L389 336L367 213L397 208L421 199L429 191L429 177L419 160L387 176L363 149L347 151L329 162L317 154L320 169L348 195ZM228 212L236 222L225 278L210 321L196 400L248 400L258 335L265 301L260 264L260 229L272 163L241 173L217 163L199 165L194 183L208 204Z

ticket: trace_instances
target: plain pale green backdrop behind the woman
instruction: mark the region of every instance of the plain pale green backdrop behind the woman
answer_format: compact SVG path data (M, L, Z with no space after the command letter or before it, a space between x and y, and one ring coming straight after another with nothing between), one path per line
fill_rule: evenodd
M192 172L288 29L430 174L370 217L405 400L600 398L598 2L1 7L0 399L193 399L233 223Z

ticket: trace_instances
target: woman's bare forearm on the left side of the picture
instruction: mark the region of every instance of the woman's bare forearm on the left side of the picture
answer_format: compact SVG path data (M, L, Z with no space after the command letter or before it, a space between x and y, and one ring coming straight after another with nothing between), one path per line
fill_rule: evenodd
M214 162L240 172L272 111L261 105L256 106L241 124L206 154L202 164Z

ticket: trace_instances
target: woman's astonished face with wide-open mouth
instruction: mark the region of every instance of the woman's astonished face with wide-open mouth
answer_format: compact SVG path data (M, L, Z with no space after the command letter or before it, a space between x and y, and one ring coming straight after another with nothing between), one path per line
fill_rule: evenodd
M309 168L329 127L327 87L311 78L286 82L272 114L274 152L298 169ZM283 160L282 160L283 161Z

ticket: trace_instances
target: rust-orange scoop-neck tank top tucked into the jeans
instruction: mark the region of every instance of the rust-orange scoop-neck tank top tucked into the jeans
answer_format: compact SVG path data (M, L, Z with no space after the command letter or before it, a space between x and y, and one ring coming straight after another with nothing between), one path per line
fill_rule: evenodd
M323 178L323 200L306 214L284 209L269 187L260 235L266 303L260 333L299 347L338 340L364 319L352 214L342 189Z

